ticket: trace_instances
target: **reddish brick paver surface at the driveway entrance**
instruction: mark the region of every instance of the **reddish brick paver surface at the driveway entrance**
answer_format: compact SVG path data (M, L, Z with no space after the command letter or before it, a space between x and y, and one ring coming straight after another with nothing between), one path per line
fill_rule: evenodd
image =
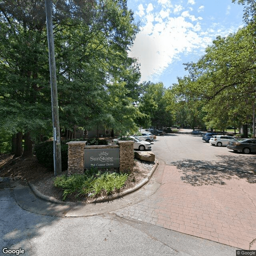
M253 174L252 174L253 175ZM255 175L255 174L254 174ZM236 176L193 186L182 170L164 166L155 194L115 213L241 249L256 239L256 184Z

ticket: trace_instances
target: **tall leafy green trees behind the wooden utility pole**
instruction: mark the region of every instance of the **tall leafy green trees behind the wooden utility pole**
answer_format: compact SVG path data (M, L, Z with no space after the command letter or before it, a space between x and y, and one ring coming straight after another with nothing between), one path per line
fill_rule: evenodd
M138 26L126 1L53 4L60 126L71 131L97 122L114 127L118 115L127 118L130 109L130 121L135 119L131 102L140 94L140 72L127 50ZM1 128L25 134L31 154L32 140L52 130L44 5L3 0L0 11ZM111 112L111 97L119 89L122 98Z

